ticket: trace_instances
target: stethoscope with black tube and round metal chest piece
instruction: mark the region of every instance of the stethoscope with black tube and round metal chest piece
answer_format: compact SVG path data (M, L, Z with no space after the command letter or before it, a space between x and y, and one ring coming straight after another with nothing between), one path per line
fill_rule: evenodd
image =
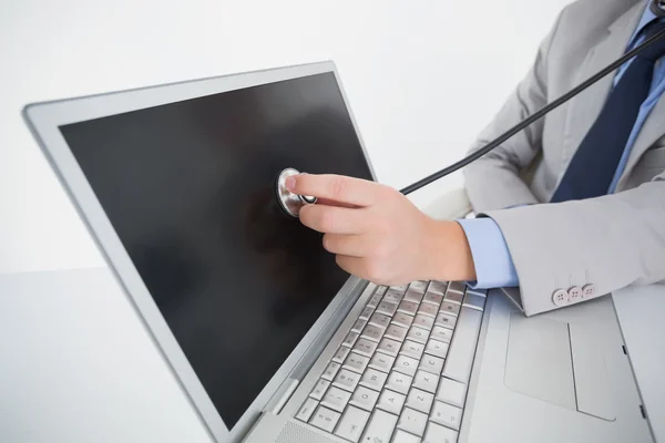
M651 0L649 9L656 17L665 18L665 0ZM655 33L654 35L652 35L651 38L645 40L643 43L641 43L633 50L626 52L623 56L621 56L620 59L617 59L616 61L614 61L613 63L611 63L605 69L601 70L595 75L587 79L586 81L582 82L576 87L572 89L571 91L563 94L562 96L554 100L553 102L546 104L538 112L531 114L530 116L524 119L522 122L518 123L516 125L514 125L513 127L508 130L505 133L501 134L495 140L488 143L481 150L478 150L478 151L473 152L472 154L469 154L464 158L460 159L459 162L453 163L452 165L405 187L400 192L403 195L411 194L412 192L418 190L421 187L429 185L432 182L438 181L439 178L446 177L447 175L452 174L453 172L456 172L458 169L461 169L462 167L469 165L472 162L475 162L478 158L482 157L490 151L500 146L507 140L509 140L510 137L512 137L520 131L524 130L526 126L529 126L536 120L540 120L541 117L543 117L545 114L548 114L552 110L555 110L556 107L561 106L562 104L564 104L572 97L574 97L575 95L580 94L582 91L590 87L591 85L596 83L598 80L603 79L605 75L610 74L611 72L613 72L614 70L616 70L617 68L623 65L625 62L627 62L633 56L635 56L636 54L638 54L640 52L645 50L647 47L651 47L654 42L661 40L662 38L665 38L665 29ZM290 190L288 190L286 188L286 178L291 175L298 175L298 174L300 174L300 173L297 169L294 169L293 167L288 167L284 171L282 171L282 173L277 177L276 185L275 185L277 202L279 203L279 206L282 207L282 209L284 209L284 212L286 212L286 214L290 215L291 217L298 217L298 215L300 213L300 208L303 206L314 205L317 202L316 197L293 194Z

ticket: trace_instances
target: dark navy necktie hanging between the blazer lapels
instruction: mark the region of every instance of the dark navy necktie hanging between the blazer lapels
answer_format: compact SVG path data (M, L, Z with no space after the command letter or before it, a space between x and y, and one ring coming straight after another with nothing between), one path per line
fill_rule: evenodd
M645 33L646 38L663 28L663 22L652 23ZM648 96L655 63L663 55L665 39L653 43L633 59L571 159L552 202L607 194L640 107Z

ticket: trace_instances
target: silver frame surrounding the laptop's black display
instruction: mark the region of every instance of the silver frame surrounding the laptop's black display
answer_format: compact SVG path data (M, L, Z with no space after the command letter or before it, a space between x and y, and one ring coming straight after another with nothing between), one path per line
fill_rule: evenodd
M35 103L25 106L23 110L28 126L53 167L116 281L134 305L203 424L211 435L219 442L237 441L247 432L273 394L287 380L294 368L315 342L317 336L332 319L337 309L347 297L352 295L350 289L358 284L358 279L350 278L340 288L327 309L264 387L241 420L232 429L228 429L217 413L183 350L177 344L120 237L113 229L102 205L95 197L83 171L61 134L60 126L227 91L330 72L335 74L339 92L360 142L365 161L369 166L372 179L376 181L376 174L367 155L356 119L350 110L348 97L341 85L339 73L331 61Z

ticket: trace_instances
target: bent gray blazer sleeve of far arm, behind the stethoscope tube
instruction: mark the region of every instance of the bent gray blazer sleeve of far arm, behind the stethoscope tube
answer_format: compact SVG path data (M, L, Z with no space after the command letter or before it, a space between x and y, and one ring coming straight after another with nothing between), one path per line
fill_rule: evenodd
M481 131L470 153L485 146L548 103L548 54L564 11L541 42L526 76L518 84L492 122ZM520 173L541 152L542 135L543 119L464 168L464 187L477 214L538 203Z

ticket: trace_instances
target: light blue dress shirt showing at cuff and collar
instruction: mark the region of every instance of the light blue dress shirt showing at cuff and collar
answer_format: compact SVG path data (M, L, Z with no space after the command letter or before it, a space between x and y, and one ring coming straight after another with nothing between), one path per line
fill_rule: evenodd
M656 16L647 7L631 38L627 50L635 48L644 41L644 34L642 30L646 24L654 20ZM621 80L621 76L625 72L626 68L631 64L632 60L622 65L614 78L614 85ZM616 190L618 178L621 177L635 138L640 134L640 130L644 125L648 113L658 102L658 99L665 92L665 59L658 60L654 70L654 79L652 81L652 87L648 97L642 103L635 125L626 143L624 153L616 167L614 178L610 184L607 194L612 194ZM513 264L512 257L503 238L501 229L491 218L471 218L461 219L458 223L464 229L469 246L471 248L471 255L473 256L473 264L475 266L477 281L469 282L470 286L479 289L500 288L500 287L515 287L519 286L518 272Z

